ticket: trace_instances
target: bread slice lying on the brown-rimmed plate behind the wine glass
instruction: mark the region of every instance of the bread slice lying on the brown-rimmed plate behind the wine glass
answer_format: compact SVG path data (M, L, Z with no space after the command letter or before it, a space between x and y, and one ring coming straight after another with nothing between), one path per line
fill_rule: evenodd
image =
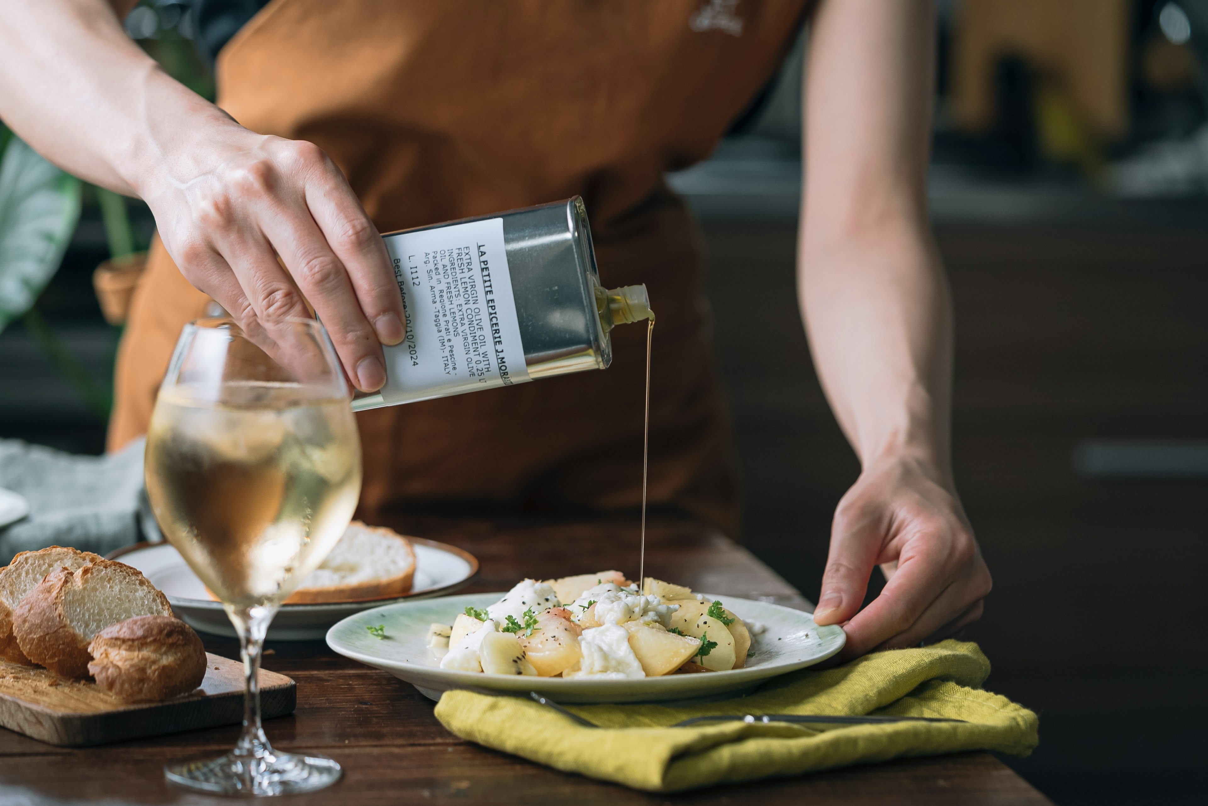
M411 592L416 551L397 532L354 520L286 604L355 602Z

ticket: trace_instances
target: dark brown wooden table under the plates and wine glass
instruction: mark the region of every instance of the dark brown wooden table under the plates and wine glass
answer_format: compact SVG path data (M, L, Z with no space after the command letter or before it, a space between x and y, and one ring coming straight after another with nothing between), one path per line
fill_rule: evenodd
M529 576L558 577L617 568L637 573L632 521L399 518L400 531L459 545L482 571L470 591L506 590ZM707 527L655 519L647 532L646 572L697 590L762 598L790 607L808 602L747 550ZM234 641L207 638L207 649L238 656ZM1047 804L988 753L966 753L853 767L819 775L647 795L538 766L463 742L432 717L432 702L411 685L336 655L319 642L269 642L265 667L298 684L298 707L265 730L281 749L325 753L344 778L313 795L283 802L407 804ZM106 747L70 749L0 729L0 804L231 802L169 787L165 763L219 755L237 726Z

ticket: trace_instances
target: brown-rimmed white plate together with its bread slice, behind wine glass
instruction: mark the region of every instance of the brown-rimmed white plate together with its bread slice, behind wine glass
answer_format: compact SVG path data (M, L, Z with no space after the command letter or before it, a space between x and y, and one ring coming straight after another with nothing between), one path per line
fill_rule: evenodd
M109 559L141 571L196 630L236 637L222 603L172 545L137 543ZM341 619L391 602L454 592L477 573L478 561L469 551L353 521L323 565L281 604L268 639L323 639Z

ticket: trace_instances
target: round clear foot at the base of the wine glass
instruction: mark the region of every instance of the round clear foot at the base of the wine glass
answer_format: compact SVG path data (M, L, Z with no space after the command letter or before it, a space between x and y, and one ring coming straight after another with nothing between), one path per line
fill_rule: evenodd
M228 753L216 759L169 764L163 775L178 787L219 795L291 795L323 789L343 770L326 755L273 750L261 755Z

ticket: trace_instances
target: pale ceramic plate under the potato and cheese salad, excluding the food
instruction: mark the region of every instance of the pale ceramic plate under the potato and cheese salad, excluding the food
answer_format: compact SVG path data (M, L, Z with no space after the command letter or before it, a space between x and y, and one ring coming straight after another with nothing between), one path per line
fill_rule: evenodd
M440 668L440 659L425 646L428 626L432 623L453 624L454 617L467 604L487 607L501 596L472 594L374 607L331 627L327 646L341 655L390 672L432 700L439 700L441 691L469 688L499 694L540 691L557 702L643 702L692 700L753 689L772 677L830 658L847 641L842 629L834 625L820 627L808 613L801 611L732 596L710 596L721 598L726 608L743 621L767 627L762 635L751 636L751 655L744 668L637 681L567 681L561 677L513 677ZM385 638L377 638L366 630L379 624L385 627Z

